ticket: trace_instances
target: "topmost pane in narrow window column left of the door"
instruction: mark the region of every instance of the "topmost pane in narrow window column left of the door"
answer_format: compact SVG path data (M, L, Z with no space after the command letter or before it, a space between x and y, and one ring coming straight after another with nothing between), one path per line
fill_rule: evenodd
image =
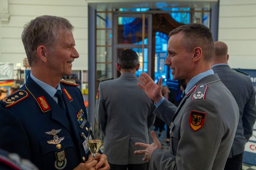
M96 13L96 28L112 28L112 13Z

